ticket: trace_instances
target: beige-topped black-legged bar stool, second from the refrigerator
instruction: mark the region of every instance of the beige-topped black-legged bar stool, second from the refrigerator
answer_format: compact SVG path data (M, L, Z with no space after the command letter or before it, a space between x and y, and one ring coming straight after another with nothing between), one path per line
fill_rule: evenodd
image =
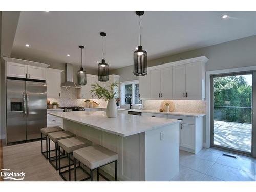
M59 132L52 132L52 133L49 133L48 134L48 146L49 146L49 151L50 151L50 140L52 140L54 143L55 143L55 156L52 157L53 159L51 159L51 154L49 153L49 162L50 164L56 169L58 170L58 156L57 156L57 142L58 140L60 139L66 139L66 138L69 138L69 137L75 137L76 135L69 132L69 131L59 131ZM65 153L65 151L64 151ZM55 160L55 165L52 163L52 161Z

